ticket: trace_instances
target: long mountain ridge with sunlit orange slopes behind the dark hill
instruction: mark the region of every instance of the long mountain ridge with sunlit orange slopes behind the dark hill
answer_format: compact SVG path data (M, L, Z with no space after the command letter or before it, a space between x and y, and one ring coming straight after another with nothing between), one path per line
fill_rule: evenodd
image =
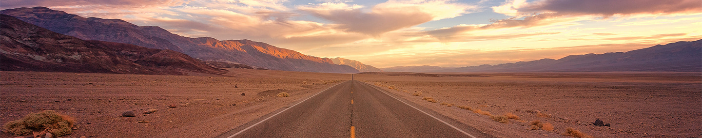
M256 68L303 72L359 72L334 64L331 59L301 54L251 40L187 38L158 26L137 26L124 20L80 17L44 7L13 8L0 11L51 31L85 40L128 43L156 49L171 49L205 61L225 61Z

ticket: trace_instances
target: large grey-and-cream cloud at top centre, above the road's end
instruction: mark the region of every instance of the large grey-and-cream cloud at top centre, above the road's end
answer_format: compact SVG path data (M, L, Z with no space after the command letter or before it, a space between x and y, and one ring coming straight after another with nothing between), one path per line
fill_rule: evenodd
M298 6L299 10L339 24L338 29L378 36L388 31L416 26L432 20L457 17L476 6L449 1L394 1L380 3L364 12L363 6L346 3L319 3Z

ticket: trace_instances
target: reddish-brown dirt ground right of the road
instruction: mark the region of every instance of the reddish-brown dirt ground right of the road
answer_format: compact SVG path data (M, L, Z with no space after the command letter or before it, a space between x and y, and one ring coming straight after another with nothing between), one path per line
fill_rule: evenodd
M450 77L451 75L455 77ZM574 128L593 137L702 137L701 72L541 72L356 75L399 97L499 137L563 137ZM468 77L466 77L468 76ZM412 95L421 91L419 96ZM437 100L422 100L430 97ZM456 106L521 120L492 121ZM538 117L538 112L548 117ZM592 125L597 118L611 127ZM529 130L534 120L553 131Z

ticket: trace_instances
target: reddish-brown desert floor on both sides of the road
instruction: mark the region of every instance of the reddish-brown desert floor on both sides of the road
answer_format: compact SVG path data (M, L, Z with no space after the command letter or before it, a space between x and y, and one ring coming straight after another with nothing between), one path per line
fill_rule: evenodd
M399 73L355 75L355 79L498 137L563 137L566 128L595 137L702 137L699 72L439 76ZM350 78L348 74L245 69L191 76L2 71L0 123L52 109L79 122L79 128L64 137L216 137ZM422 94L412 95L415 91ZM280 92L291 97L275 97ZM498 123L442 102L493 115L509 112L521 120ZM148 109L158 111L141 114ZM121 117L127 111L138 116ZM537 112L549 116L537 117ZM611 127L591 125L596 118ZM552 123L555 130L529 130L534 120ZM0 137L14 136L0 132Z

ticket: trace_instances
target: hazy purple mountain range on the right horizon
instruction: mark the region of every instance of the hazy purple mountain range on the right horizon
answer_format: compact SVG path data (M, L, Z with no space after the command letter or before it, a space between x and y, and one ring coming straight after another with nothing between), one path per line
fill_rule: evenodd
M541 59L468 66L432 72L607 72L666 71L702 72L702 40L656 45L629 52L570 55L562 59Z

